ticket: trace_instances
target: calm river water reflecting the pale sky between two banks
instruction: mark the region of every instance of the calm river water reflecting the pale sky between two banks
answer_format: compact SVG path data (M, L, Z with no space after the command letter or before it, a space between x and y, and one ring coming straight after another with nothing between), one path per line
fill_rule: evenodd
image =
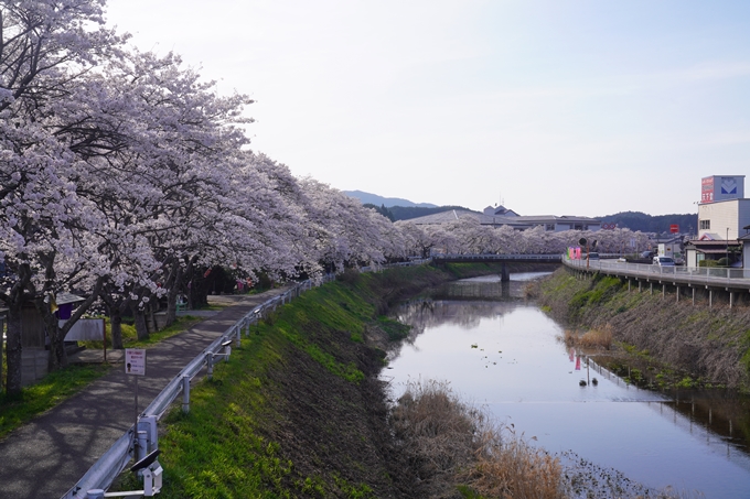
M538 276L458 281L401 305L413 330L383 371L394 395L409 380L446 380L551 453L685 497L750 498L748 401L639 389L606 358L571 351L564 328L523 299Z

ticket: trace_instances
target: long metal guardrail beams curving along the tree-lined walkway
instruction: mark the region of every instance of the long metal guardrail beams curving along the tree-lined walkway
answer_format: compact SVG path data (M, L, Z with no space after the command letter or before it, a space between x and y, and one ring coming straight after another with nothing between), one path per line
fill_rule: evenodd
M421 265L428 263L430 259L411 260L408 262L390 263L386 265L372 265L358 269L361 272L374 272L393 267L410 267ZM249 328L253 324L264 318L270 311L275 311L277 306L291 302L293 297L298 297L301 293L313 286L320 286L326 282L333 281L335 274L325 274L322 278L303 281L294 288L285 293L275 296L264 304L253 308L245 314L233 326L226 329L217 339L208 345L197 357L190 361L175 376L167 387L159 393L153 401L139 415L139 421L143 419L156 419L157 421L167 412L172 402L183 393L184 384L190 383L195 376L205 367L211 360L212 356L221 356L221 350L228 340L236 339L239 341L243 329L249 334ZM141 425L138 427L141 429ZM115 444L86 471L86 474L74 485L61 499L83 499L86 498L89 490L107 490L113 481L122 473L128 463L136 457L135 435L136 425L120 436Z

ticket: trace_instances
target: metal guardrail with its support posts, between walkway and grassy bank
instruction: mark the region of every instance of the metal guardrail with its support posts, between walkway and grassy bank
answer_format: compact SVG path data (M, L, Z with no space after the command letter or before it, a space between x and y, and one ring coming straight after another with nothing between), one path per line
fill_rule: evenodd
M387 265L372 265L360 268L361 272L375 272L394 267L420 265L430 260L413 260L403 263ZM283 294L275 296L264 304L253 308L244 317L229 327L221 337L206 347L195 357L180 373L174 377L156 399L139 415L137 425L131 426L109 449L86 471L86 474L73 486L62 499L99 499L104 498L104 490L108 489L113 481L125 470L131 459L146 462L149 456L156 458L158 454L157 422L167 412L172 402L182 394L183 411L189 410L190 382L204 367L207 367L207 376L213 373L213 365L217 359L228 358L232 344L239 346L243 332L250 333L250 326L266 317L277 306L291 302L301 293L313 286L322 285L335 279L334 274L325 274L322 278L307 280L297 284ZM137 427L136 427L137 426ZM136 465L138 466L138 465ZM161 487L161 467L158 463L149 463L143 466L144 490L140 496L152 497ZM152 480L148 482L148 480ZM116 497L117 492L109 492L107 497ZM130 492L121 492L122 496ZM131 493L130 493L131 495Z

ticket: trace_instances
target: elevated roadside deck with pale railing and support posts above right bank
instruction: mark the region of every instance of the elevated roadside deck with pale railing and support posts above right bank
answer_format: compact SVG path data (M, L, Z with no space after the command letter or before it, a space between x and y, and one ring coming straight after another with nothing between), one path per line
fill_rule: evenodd
M675 300L685 296L689 290L695 304L696 292L708 297L712 306L719 296L727 296L731 308L737 299L750 292L750 270L716 267L661 267L649 263L628 263L614 260L570 260L561 259L562 264L578 273L601 273L628 281L628 290L636 283L639 291L647 285L651 293L654 284L661 286L663 296L667 289L675 291Z

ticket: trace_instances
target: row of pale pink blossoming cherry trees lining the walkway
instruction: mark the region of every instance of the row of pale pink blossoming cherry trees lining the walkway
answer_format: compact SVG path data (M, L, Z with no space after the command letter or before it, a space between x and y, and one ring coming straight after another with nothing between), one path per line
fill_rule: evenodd
M117 327L223 265L247 276L314 275L431 249L561 252L580 232L392 224L311 178L246 149L242 95L173 54L139 52L104 23L105 0L0 0L0 300L8 308L6 388L21 390L21 308L33 303L50 340L95 303ZM615 231L621 232L621 231ZM619 249L622 241L609 235ZM602 241L604 242L604 241ZM50 301L86 300L62 327Z

